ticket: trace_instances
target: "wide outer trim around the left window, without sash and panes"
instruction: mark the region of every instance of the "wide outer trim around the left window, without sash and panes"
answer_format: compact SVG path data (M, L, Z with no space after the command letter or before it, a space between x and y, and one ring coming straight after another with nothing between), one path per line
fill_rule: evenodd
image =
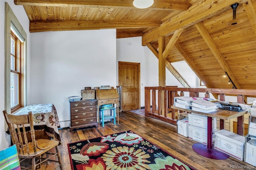
M16 30L19 33L19 36L22 36L22 38L24 39L24 42L20 44L20 50L21 50L21 54L20 55L20 102L19 105L11 108L11 104L10 104L10 73L11 73L11 69L10 69L10 53L11 53L11 24L15 26ZM26 89L26 48L27 48L27 34L24 31L24 29L22 28L22 25L20 24L20 22L18 21L18 19L16 18L14 12L12 11L12 9L10 8L10 6L8 5L8 2L5 2L5 33L4 33L4 38L5 38L5 91L4 91L4 95L5 95L5 110L7 111L7 113L15 113L18 109L20 109L21 107L26 106L26 101L27 101L27 89ZM23 63L23 64L22 64Z

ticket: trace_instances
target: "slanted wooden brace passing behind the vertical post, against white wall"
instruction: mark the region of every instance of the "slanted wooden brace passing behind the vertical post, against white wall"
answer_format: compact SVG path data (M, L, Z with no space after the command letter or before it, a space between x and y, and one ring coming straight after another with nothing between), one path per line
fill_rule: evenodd
M158 58L158 50L157 47L153 43L147 44L148 48L154 53L154 55ZM166 68L174 75L174 77L186 88L190 88L188 82L180 75L180 73L171 65L170 62L165 60Z

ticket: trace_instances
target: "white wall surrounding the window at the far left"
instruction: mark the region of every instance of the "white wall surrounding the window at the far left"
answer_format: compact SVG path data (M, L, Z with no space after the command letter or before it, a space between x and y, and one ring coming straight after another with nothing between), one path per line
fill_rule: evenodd
M27 34L27 47L30 49L30 34L29 34L29 20L28 16L26 15L26 12L23 8L23 6L17 6L14 4L13 0L0 0L0 150L3 148L6 148L9 146L10 142L10 136L7 135L4 131L4 115L2 114L2 111L5 110L5 103L4 103L4 89L5 89L5 80L4 80L4 74L5 74L5 59L4 59L4 16L5 16L5 2L8 2L10 8L12 8L12 11L18 18L20 24L24 28L26 34ZM30 61L30 51L27 51L27 60ZM28 70L30 70L28 66ZM28 82L28 88L30 77L27 77ZM28 92L29 93L29 92Z

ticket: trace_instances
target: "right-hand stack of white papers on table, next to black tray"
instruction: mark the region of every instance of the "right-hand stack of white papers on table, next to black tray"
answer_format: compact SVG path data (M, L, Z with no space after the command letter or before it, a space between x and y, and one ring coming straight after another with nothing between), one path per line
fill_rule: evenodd
M206 101L204 99L194 99L191 103L192 111L199 111L204 113L211 113L218 109L218 104Z

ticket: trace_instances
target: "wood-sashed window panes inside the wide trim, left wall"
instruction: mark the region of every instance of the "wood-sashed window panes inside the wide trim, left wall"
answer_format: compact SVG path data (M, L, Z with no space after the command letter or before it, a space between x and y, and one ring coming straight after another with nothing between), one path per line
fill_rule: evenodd
M12 28L11 28L12 30ZM10 105L11 110L20 107L21 102L21 65L22 65L22 43L16 34L11 31L10 39Z

